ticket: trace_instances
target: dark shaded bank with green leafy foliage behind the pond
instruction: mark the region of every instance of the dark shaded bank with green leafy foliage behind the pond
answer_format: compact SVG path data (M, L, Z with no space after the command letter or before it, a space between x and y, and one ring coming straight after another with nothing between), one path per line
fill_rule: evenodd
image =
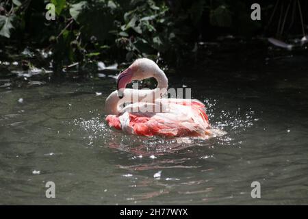
M45 18L49 2L55 21ZM261 21L251 20L253 3L261 5ZM303 55L305 44L288 51L267 39L294 44L303 38L307 7L298 0L1 1L0 76L14 77L14 66L3 65L14 61L24 70L51 68L59 75L66 66L80 72L96 69L98 61L125 65L138 57L172 71L188 63L190 68L217 61L251 66L260 58Z

